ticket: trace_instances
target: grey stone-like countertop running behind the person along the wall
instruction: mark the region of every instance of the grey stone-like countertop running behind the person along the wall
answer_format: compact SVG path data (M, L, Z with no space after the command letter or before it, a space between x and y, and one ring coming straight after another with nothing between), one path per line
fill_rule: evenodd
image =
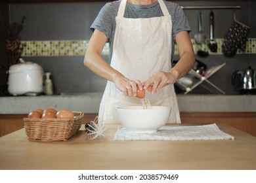
M28 114L35 108L98 113L102 93L0 97L0 114ZM177 95L180 112L256 112L256 95Z

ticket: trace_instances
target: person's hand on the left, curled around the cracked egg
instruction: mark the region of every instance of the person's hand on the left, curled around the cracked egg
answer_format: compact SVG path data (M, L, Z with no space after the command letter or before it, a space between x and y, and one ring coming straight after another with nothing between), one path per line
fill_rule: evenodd
M114 83L116 84L116 88L123 92L123 95L128 97L135 97L138 90L143 90L143 86L140 80L129 80L124 76L116 77Z

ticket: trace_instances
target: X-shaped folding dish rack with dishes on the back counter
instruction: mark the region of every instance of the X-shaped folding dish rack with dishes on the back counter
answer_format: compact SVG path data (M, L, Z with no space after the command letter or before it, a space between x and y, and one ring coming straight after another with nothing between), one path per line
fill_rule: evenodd
M217 65L217 66L211 67L210 69L205 71L204 75L200 75L200 74L196 73L196 71L194 71L194 69L191 69L189 71L188 75L194 76L194 78L196 78L196 82L194 84L192 84L192 86L190 86L190 87L188 87L185 84L183 84L181 82L181 80L177 80L176 83L177 83L178 86L180 86L181 88L183 88L186 91L186 92L184 92L185 95L187 93L191 92L192 90L194 90L194 88L196 88L197 86L199 86L203 82L209 83L211 86L213 86L213 88L216 88L217 90L219 90L219 92L221 92L223 94L226 94L225 92L223 92L223 90L221 90L219 87L217 87L215 84L213 84L212 82L210 82L208 80L208 78L210 76L212 76L217 71L219 71L219 69L221 69L224 65L226 65L226 62L224 62L221 65ZM208 88L205 88L205 89L209 90Z

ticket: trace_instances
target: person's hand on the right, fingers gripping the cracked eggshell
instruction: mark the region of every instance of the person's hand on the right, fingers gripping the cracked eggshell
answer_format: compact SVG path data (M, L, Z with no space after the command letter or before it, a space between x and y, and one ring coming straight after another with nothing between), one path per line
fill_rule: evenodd
M158 92L160 88L167 86L168 84L174 84L179 77L178 71L170 70L169 72L155 71L152 76L144 82L144 90L148 86L152 86L152 94Z

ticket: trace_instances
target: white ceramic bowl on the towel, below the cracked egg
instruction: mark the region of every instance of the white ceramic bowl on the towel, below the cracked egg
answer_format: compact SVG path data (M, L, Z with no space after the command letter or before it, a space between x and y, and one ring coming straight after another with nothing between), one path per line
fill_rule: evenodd
M142 106L117 107L119 121L127 129L135 133L155 133L166 124L171 107L151 106L143 109Z

